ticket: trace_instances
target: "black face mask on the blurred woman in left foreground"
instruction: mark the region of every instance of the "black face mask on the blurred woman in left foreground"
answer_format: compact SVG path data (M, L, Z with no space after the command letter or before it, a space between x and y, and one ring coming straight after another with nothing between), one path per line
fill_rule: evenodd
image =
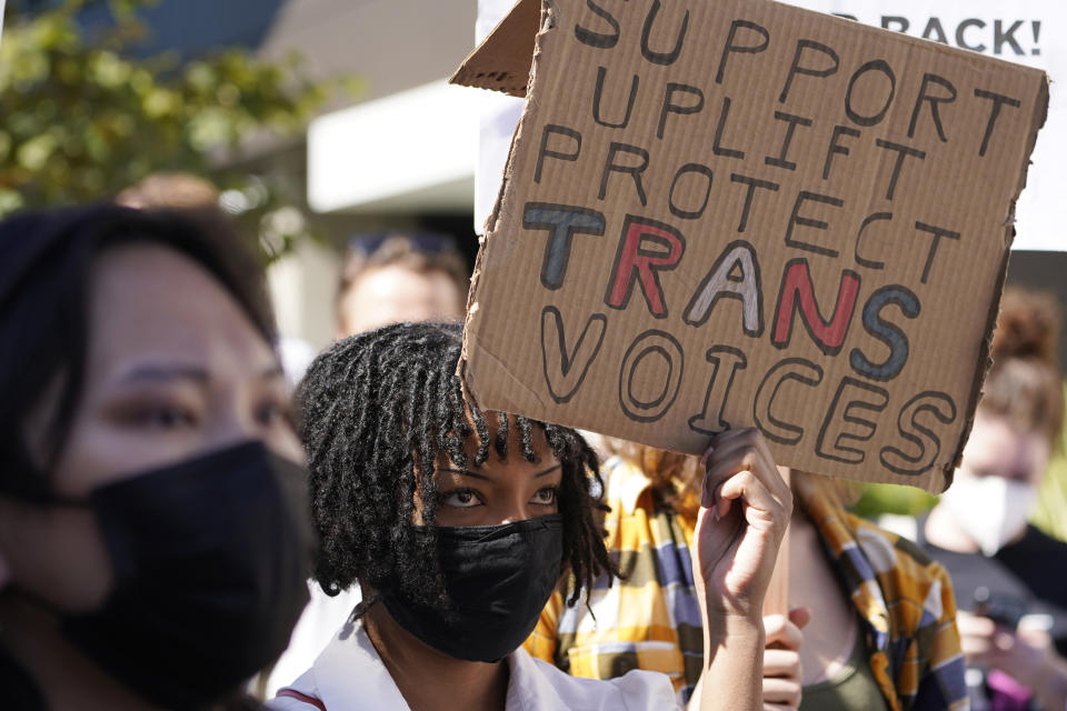
M63 632L149 701L197 709L277 659L308 601L307 471L246 442L94 489L114 584Z

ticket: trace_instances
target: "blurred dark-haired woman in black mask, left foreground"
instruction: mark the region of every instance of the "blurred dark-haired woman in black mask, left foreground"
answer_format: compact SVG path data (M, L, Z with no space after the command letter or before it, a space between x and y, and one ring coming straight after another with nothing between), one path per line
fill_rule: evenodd
M262 271L207 217L0 224L0 707L243 708L307 600Z

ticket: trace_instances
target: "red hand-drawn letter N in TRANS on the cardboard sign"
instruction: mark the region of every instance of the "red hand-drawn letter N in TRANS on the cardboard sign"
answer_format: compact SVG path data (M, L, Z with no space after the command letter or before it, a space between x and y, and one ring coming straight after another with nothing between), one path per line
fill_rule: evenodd
M841 286L837 290L837 303L829 320L822 318L819 304L815 301L811 274L806 259L794 259L786 264L781 276L781 290L778 292L778 308L775 310L775 330L770 342L776 348L789 346L792 337L792 317L799 310L808 336L827 356L836 356L845 342L848 324L856 310L856 296L859 293L859 274L851 270L841 272Z

